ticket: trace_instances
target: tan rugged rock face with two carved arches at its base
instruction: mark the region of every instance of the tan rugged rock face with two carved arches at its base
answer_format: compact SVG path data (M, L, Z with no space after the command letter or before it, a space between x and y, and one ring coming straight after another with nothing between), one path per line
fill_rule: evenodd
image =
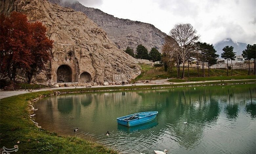
M0 1L1 13L18 11L29 21L41 21L54 40L52 59L35 83L78 82L103 84L130 81L140 74L138 61L109 40L82 12L51 4L47 0Z

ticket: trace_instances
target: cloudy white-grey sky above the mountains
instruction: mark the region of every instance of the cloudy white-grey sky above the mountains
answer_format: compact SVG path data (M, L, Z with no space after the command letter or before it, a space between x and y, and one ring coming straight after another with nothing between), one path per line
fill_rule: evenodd
M118 18L153 24L169 34L176 23L190 23L203 42L225 38L256 43L255 0L78 0Z

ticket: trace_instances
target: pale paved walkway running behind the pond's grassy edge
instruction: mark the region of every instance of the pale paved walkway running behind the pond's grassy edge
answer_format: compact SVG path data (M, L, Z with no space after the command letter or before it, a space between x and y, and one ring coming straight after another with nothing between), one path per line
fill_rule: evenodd
M207 83L207 82L220 82L220 81L245 81L245 80L255 80L255 79L245 79L245 80L215 80L215 81L195 81L195 82L168 82L169 79L162 79L162 80L154 80L150 83L144 84L144 83L138 83L138 84L128 84L125 86L147 86L147 85L177 85L177 84L194 84L194 83ZM97 87L122 87L122 85L110 85L110 86L92 86L91 88L97 88ZM55 88L45 88L45 89L38 89L38 90L32 90L32 92L37 91L46 91L46 90L58 90L58 89L74 89L74 88L89 88L89 87L55 87ZM27 90L21 90L21 91L0 91L0 99L5 97L10 97L14 95L19 94L25 94L29 93L31 91Z

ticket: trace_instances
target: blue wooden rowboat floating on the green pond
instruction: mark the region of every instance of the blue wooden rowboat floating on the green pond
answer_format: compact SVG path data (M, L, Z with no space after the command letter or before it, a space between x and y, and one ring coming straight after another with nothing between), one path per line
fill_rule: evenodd
M117 124L128 127L144 124L156 118L158 111L140 112L117 118Z

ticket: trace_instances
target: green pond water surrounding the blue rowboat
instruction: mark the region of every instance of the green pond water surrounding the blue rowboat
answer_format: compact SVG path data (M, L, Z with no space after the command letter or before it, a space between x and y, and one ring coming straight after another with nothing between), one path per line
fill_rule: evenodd
M67 94L34 106L43 128L121 153L256 153L255 85ZM151 123L117 125L117 117L154 110Z

